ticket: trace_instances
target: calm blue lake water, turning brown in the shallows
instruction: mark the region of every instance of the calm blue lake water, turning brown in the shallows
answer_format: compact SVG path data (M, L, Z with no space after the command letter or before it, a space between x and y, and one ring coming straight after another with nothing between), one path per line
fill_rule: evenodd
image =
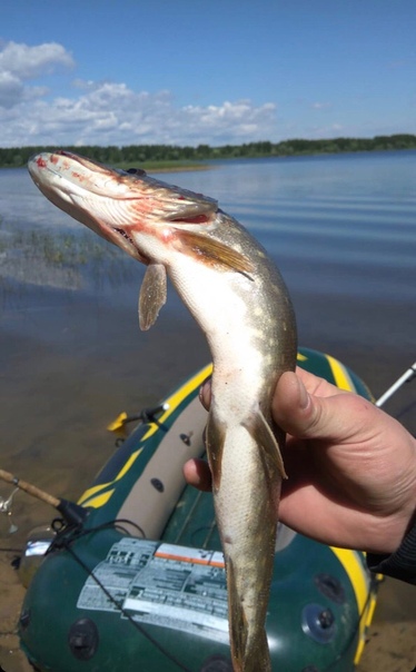
M341 359L376 396L415 360L416 151L224 161L161 179L217 198L263 243L301 345ZM155 327L139 332L142 275L50 205L26 170L0 170L2 468L77 498L113 449L106 425L208 360L172 289ZM415 432L415 407L416 383L386 409ZM14 512L17 541L51 516L24 495Z

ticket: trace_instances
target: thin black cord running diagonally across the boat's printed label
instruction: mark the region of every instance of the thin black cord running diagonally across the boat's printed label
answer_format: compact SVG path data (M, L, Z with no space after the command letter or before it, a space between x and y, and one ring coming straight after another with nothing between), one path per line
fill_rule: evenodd
M105 530L108 527L116 527L116 528L120 527L121 530L123 530L123 527L122 527L122 525L120 525L120 523L125 523L125 524L128 523L128 524L135 525L133 523L130 523L130 521L127 521L127 520L119 520L119 521L116 520L116 521L111 521L109 523L99 525L97 527L91 527L90 530L83 530L81 533L77 534L76 540L78 540L82 536L86 536L87 534L91 534L93 532L100 532L101 530ZM135 525L135 526L138 527L137 525ZM165 655L170 662L172 662L175 665L177 665L179 668L179 670L182 670L182 672L192 672L189 668L186 668L175 655L172 655L169 651L167 651L167 649L165 649L139 623L137 623L137 621L135 621L135 619L123 609L123 606L111 595L111 593L107 590L107 587L103 585L103 583L100 581L100 579L98 579L98 576L93 573L93 571L90 570L89 566L86 565L83 560L81 560L81 557L79 557L79 555L73 551L73 549L70 547L70 543L76 540L75 538L72 538L72 540L63 538L58 542L58 545L63 547L66 551L68 551L68 553L73 557L73 560L85 570L85 572L87 572L88 576L91 576L91 579L97 583L97 585L105 593L106 597L108 597L108 600L110 600L110 602L131 623L131 625L133 627L136 627L136 630L140 634L142 634L162 655Z

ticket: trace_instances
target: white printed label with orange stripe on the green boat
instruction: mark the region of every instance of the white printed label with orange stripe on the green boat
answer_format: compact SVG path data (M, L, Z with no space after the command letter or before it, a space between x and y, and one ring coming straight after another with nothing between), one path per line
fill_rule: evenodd
M79 595L79 609L123 612L140 623L228 643L222 553L131 537L113 544ZM122 617L122 614L121 614Z

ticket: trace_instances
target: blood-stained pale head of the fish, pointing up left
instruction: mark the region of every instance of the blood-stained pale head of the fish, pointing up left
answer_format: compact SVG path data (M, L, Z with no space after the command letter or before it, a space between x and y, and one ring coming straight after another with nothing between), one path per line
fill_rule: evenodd
M168 237L170 227L208 225L218 211L215 199L166 185L145 170L109 168L66 150L38 154L28 168L53 205L145 264L140 234Z

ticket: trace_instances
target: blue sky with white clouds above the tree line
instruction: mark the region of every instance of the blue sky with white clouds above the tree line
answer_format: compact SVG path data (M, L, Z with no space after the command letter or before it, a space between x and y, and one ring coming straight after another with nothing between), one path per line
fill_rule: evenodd
M1 0L0 147L416 134L415 0Z

